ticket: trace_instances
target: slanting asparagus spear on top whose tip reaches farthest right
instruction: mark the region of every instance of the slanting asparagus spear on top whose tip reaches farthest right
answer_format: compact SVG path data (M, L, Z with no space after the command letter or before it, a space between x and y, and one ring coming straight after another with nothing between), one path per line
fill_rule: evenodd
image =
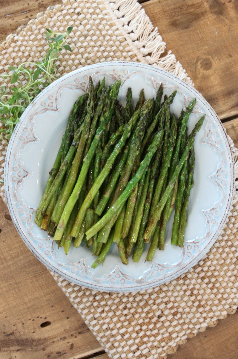
M192 148L193 144L194 144L194 140L195 140L195 136L197 131L200 130L203 121L204 121L205 115L203 115L199 121L197 121L196 125L194 126L194 129L192 130L191 134L189 135L187 141L186 141L186 146L185 149L182 153L182 156L175 168L175 171L173 172L172 176L171 176L171 180L168 183L168 186L166 187L166 190L163 194L163 196L161 197L159 203L157 204L156 208L154 209L154 213L151 217L151 219L149 220L149 223L147 225L147 228L145 230L144 233L144 240L145 241L149 241L152 233L154 231L154 229L156 228L156 224L158 222L158 220L160 219L162 210L167 202L167 199L173 189L173 186L175 185L176 179L180 174L180 171L185 163L185 161L187 160L188 156L189 156L189 151Z

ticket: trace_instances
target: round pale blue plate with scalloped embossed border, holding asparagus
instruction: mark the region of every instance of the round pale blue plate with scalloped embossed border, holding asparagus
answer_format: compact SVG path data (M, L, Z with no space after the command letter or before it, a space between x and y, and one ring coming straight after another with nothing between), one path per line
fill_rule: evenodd
M184 247L171 246L172 218L165 250L156 251L152 262L123 265L117 246L112 246L103 266L91 268L95 257L88 248L72 247L68 255L34 223L49 170L65 131L67 117L78 95L87 91L89 76L106 85L120 79L119 101L131 87L136 102L144 88L153 97L161 82L164 93L178 93L171 111L180 114L194 98L189 132L203 113L205 121L195 139L194 187L192 188ZM232 152L222 123L208 102L184 81L163 70L135 62L106 62L66 74L44 89L23 113L10 139L5 161L4 185L10 215L30 251L50 270L72 283L107 292L128 292L155 287L177 278L206 255L220 234L233 197ZM16 263L17 265L17 263Z

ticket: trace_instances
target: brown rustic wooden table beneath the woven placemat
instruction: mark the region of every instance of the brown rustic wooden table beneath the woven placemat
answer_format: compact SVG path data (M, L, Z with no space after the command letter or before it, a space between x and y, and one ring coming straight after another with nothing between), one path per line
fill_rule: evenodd
M140 2L238 147L238 1ZM1 0L0 41L56 3ZM0 358L108 358L47 269L22 242L1 200L0 238ZM189 339L172 358L238 358L237 319L236 313L219 321Z

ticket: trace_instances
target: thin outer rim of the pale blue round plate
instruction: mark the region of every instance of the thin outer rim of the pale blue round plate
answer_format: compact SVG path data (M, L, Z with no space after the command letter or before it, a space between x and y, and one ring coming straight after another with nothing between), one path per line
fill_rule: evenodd
M178 275L177 274L172 275L172 276L170 275L170 278L168 280L162 280L162 279L160 280L160 279L157 278L154 281L150 281L148 284L139 284L139 285L133 285L133 286L130 285L130 289L128 289L128 290L126 290L125 288L112 288L112 287L110 287L108 285L105 285L105 283L103 283L102 285L98 285L98 284L92 285L90 283L86 283L86 281L82 282L80 279L75 279L75 281L74 281L65 272L61 271L59 268L54 267L53 265L48 263L46 260L44 260L44 258L39 256L34 251L34 246L29 242L29 239L24 235L24 233L21 232L20 228L18 228L18 223L16 222L13 206L11 205L11 198L10 198L10 194L9 194L9 182L8 182L8 170L9 170L8 166L9 166L10 155L11 155L11 151L13 149L12 146L14 144L15 137L16 137L18 131L21 128L21 123L24 121L24 118L28 115L28 112L32 109L32 107L34 107L35 102L37 102L39 100L39 98L44 96L44 94L47 93L51 88L53 88L54 86L57 86L58 83L61 83L66 78L74 76L75 74L80 74L80 73L84 72L85 70L90 70L90 68L95 70L97 67L118 66L118 65L139 66L141 68L152 69L154 71L158 71L158 73L165 74L166 76L172 78L178 84L181 83L191 93L193 93L196 97L199 97L199 99L201 99L203 101L203 103L205 104L206 109L209 110L211 115L218 122L220 130L222 130L223 135L224 135L224 139L226 140L225 146L226 146L226 148L228 150L229 158L231 160L231 161L229 161L229 163L230 163L230 177L231 177L231 186L230 186L230 189L229 189L229 193L230 193L229 200L227 202L227 206L226 206L226 209L224 211L224 215L223 215L223 218L222 218L222 220L220 222L220 225L219 225L218 229L214 233L214 236L212 238L210 238L209 243L205 247L206 248L205 253L202 251L197 257L194 258L194 260L189 262L189 267L185 263L184 266L182 266L177 271ZM227 219L227 216L229 214L229 211L230 211L230 208L231 208L231 205L232 205L233 196L234 196L234 184L235 184L234 183L234 157L233 157L233 154L232 154L232 147L231 147L231 144L230 144L230 141L229 141L229 137L228 137L228 135L227 135L227 133L225 131L225 128L224 128L221 120L219 119L218 115L216 114L214 109L211 107L211 105L208 103L208 101L206 101L206 99L203 97L203 95L201 95L194 87L191 87L191 85L186 83L184 80L178 78L176 75L173 75L172 73L170 73L170 72L168 72L166 70L157 68L157 67L155 67L153 65L148 65L148 64L143 64L141 62L133 62L133 61L108 61L108 62L100 62L100 63L97 63L97 64L86 65L84 67L80 67L79 69L70 71L69 73L66 73L63 76L61 76L60 78L53 81L47 88L43 89L42 92L39 95L37 95L37 97L35 97L33 99L33 101L29 104L27 109L24 111L23 115L20 117L20 120L17 123L17 125L16 125L16 127L15 127L15 129L13 131L13 134L12 134L10 140L9 140L8 149L7 149L6 155L5 155L5 163L4 163L4 189L5 189L5 198L6 198L7 206L8 206L8 209L9 209L9 213L11 215L11 218L13 220L13 223L15 225L15 228L16 228L17 232L19 233L20 237L23 239L23 242L27 245L29 250L33 253L33 255L40 262L42 262L42 264L44 266L46 266L48 269L52 270L55 274L61 275L63 278L67 279L68 281L70 281L72 283L75 283L77 285L80 285L80 286L86 286L86 288L95 289L95 290L99 290L99 291L107 291L107 292L118 292L118 293L119 292L133 292L133 291L137 291L137 290L144 290L144 289L148 289L148 288L154 288L156 286L159 286L159 285L164 284L164 283L168 283L168 282L178 278L179 276L184 274L186 271L188 271L189 269L194 267L196 264L198 264L199 261L201 260L201 258L203 256L207 255L209 249L215 243L215 241L217 240L217 238L219 237L220 233L222 232L222 230L223 230L223 228L225 226L226 219Z

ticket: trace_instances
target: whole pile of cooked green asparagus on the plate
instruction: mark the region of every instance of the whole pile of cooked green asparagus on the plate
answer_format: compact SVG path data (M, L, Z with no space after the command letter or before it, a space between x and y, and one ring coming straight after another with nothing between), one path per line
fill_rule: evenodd
M204 116L187 135L196 99L179 118L170 105L177 93L145 99L143 89L133 107L118 101L120 81L95 86L70 112L65 134L49 173L35 223L67 254L71 242L92 248L102 263L112 243L124 264L138 262L146 243L146 260L162 250L168 220L175 207L171 244L183 246L187 205L193 186L194 139Z

